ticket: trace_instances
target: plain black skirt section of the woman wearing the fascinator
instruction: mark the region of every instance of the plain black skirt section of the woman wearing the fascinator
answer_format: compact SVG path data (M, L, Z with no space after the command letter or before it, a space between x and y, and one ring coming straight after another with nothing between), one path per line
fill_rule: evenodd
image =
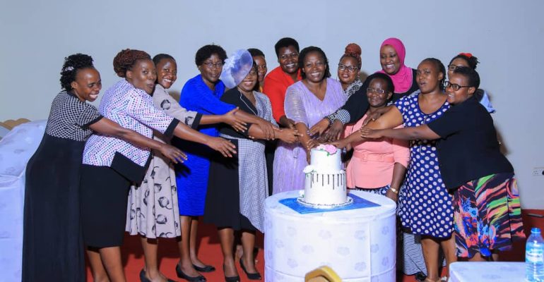
M230 141L238 147L237 140ZM256 231L249 219L240 214L237 155L225 158L216 153L211 158L203 221L218 228Z

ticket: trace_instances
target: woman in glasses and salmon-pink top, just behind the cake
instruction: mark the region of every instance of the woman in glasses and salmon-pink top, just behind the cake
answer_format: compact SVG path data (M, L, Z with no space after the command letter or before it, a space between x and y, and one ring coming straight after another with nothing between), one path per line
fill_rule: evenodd
M367 79L368 114L372 115L374 111L386 106L394 92L394 85L384 73L374 73ZM366 116L355 125L346 126L344 135L358 134ZM345 140L338 142L343 143ZM343 144L339 147L343 147ZM410 159L408 142L382 138L353 142L347 147L353 147L353 157L345 170L348 188L386 195L396 202Z

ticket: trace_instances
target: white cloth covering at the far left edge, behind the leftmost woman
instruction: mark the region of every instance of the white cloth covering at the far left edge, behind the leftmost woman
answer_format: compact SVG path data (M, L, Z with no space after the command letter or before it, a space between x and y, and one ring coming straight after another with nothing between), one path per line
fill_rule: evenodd
M25 168L46 122L23 123L0 140L0 281L20 281Z

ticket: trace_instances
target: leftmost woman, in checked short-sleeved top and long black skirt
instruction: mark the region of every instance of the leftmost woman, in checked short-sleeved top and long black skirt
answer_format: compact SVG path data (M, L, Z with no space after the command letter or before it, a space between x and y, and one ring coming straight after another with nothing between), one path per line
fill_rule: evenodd
M26 168L23 281L85 281L79 180L83 147L93 131L158 149L174 161L184 157L103 118L86 103L102 88L90 56L66 57L60 81L64 90L53 100L44 137Z

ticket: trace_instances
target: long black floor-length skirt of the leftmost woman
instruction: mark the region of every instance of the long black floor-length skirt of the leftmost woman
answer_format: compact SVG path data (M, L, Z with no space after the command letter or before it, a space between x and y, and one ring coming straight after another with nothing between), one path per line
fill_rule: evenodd
M79 214L84 147L45 134L28 161L22 281L85 281Z

